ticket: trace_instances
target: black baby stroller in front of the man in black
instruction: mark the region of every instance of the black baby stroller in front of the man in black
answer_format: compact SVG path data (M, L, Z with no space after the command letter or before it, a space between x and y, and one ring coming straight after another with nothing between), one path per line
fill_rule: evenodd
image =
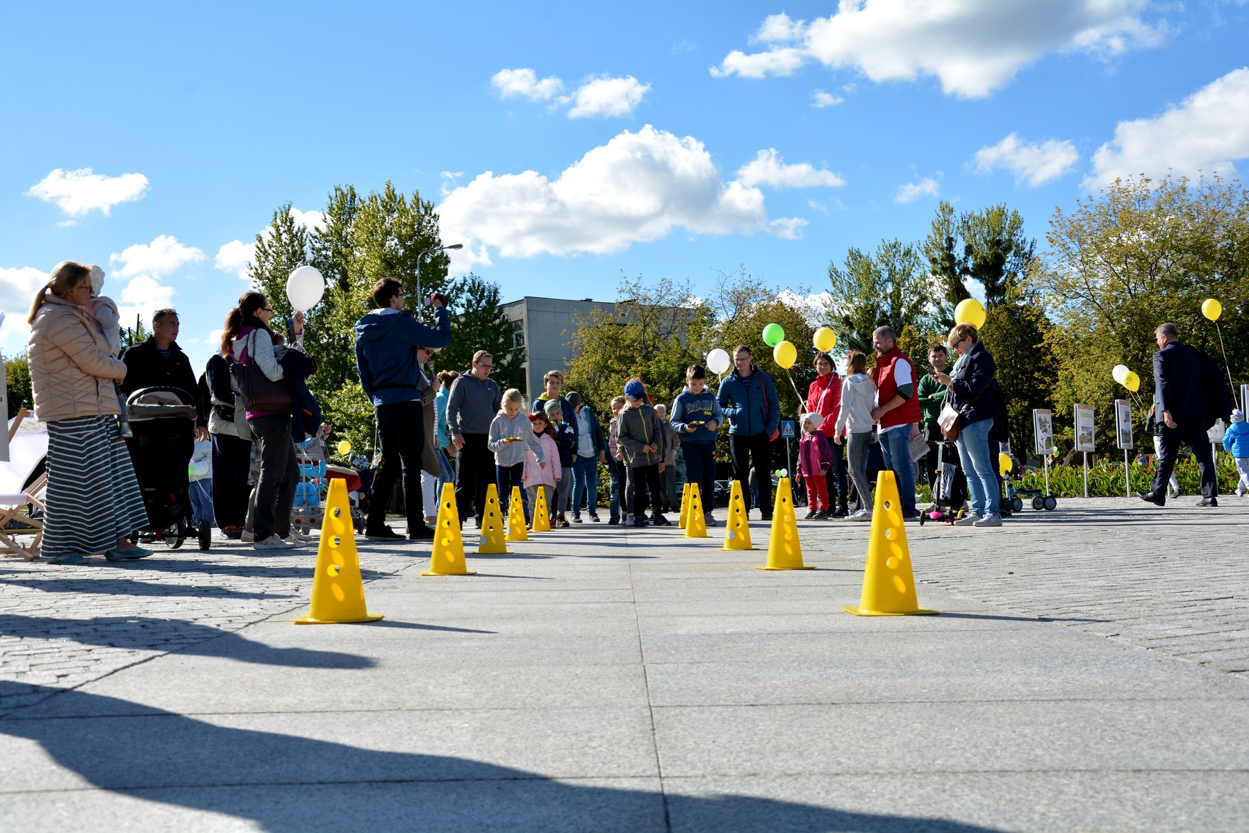
M195 397L177 387L142 387L126 400L134 437L126 440L139 478L139 491L147 510L147 526L136 532L150 535L177 550L195 536L200 550L212 542L207 521L195 525L187 496L187 465L195 451Z

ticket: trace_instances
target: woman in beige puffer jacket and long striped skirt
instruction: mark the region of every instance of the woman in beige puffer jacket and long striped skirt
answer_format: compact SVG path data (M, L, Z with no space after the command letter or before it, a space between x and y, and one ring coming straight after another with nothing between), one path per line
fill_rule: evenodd
M147 523L130 452L117 433L114 381L126 366L87 317L91 270L52 269L30 310L30 383L35 416L47 423L47 513L40 548L52 563L150 556L129 541Z

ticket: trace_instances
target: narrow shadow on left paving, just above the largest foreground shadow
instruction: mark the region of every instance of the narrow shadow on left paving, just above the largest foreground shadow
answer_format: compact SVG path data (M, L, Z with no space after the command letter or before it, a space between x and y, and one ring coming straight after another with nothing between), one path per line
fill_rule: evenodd
M372 668L368 657L307 648L272 648L237 633L185 619L142 616L101 616L57 619L47 616L0 614L0 636L74 639L81 644L129 651L169 651L237 662L292 668Z

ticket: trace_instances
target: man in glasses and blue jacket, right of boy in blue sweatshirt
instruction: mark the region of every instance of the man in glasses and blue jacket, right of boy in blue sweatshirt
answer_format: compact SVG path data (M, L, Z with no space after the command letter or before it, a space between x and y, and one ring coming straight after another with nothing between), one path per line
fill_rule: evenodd
M781 426L781 400L772 377L751 363L751 348L733 348L733 372L716 397L728 420L728 453L733 480L751 493L751 465L759 481L759 512L772 520L772 440ZM747 498L749 500L749 498Z

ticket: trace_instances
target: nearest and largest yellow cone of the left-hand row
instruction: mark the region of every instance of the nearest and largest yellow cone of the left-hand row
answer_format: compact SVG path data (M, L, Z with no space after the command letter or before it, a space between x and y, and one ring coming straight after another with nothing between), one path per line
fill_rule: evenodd
M360 581L347 482L331 480L321 520L321 542L316 548L312 603L309 604L309 614L295 619L295 623L376 622L380 618L381 613L370 613L365 607L365 584Z

